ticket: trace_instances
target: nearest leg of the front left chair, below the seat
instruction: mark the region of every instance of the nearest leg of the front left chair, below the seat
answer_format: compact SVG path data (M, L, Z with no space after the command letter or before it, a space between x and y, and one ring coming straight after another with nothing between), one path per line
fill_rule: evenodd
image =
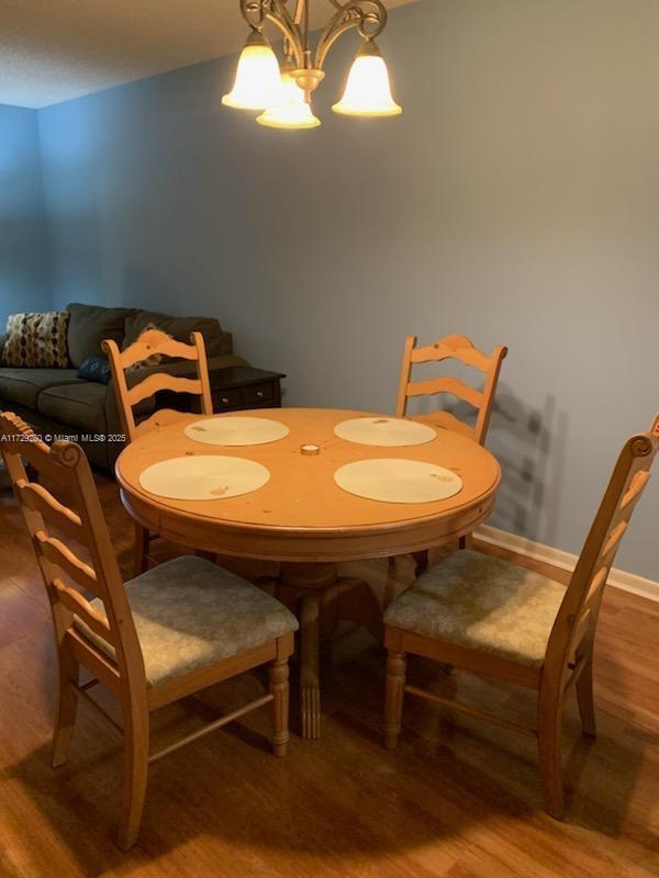
M148 711L124 710L124 792L119 846L133 847L139 835L148 774Z

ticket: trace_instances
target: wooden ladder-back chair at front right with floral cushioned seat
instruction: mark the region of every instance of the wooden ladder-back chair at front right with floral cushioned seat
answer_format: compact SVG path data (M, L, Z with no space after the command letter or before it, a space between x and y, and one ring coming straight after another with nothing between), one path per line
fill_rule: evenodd
M625 442L581 555L563 586L526 567L474 551L431 567L384 615L388 650L386 743L396 745L403 694L537 739L546 810L565 811L560 735L565 697L574 687L585 734L595 734L593 645L616 551L650 476L659 415ZM528 728L405 684L409 654L422 655L537 691Z

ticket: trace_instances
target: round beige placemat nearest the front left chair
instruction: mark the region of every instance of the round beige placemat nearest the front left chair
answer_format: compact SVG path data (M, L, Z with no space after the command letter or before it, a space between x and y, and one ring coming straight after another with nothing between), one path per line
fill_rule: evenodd
M200 454L154 463L141 474L139 484L158 497L217 500L250 494L269 479L269 471L253 460Z

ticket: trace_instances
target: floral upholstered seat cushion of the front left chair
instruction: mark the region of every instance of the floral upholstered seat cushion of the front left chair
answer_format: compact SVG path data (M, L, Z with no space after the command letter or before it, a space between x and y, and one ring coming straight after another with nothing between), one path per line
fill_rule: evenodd
M282 604L202 558L185 555L125 584L146 680L156 686L295 631ZM98 598L91 605L105 616ZM107 654L112 648L80 619L75 624Z

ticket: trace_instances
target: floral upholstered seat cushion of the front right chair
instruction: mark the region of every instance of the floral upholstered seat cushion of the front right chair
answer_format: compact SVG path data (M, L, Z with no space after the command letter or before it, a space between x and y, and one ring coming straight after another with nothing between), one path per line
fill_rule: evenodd
M393 600L384 622L539 667L566 587L480 552L455 552Z

